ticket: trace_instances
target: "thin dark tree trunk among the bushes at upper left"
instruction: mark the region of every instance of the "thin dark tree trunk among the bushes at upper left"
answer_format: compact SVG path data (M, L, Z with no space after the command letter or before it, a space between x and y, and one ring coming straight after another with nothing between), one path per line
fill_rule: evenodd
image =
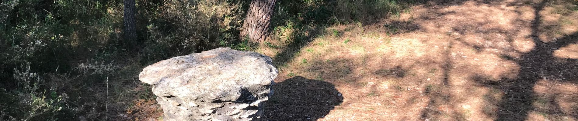
M124 45L132 48L136 43L135 0L124 0Z

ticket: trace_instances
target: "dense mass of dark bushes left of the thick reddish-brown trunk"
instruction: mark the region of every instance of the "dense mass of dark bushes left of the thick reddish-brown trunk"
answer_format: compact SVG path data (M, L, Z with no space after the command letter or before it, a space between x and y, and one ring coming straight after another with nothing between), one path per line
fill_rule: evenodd
M129 50L120 44L123 1L2 1L0 120L116 120L108 114L123 106L103 102L150 95L128 93L143 66L218 46L248 48L236 38L243 3L137 1L138 45Z

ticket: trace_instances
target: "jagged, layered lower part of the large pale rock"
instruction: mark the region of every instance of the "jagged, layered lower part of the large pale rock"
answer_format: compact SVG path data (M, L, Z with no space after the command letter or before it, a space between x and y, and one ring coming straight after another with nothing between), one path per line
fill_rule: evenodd
M240 102L200 102L195 100L184 100L180 97L157 97L157 103L164 111L164 120L213 120L213 121L233 121L233 120L257 120L263 114L263 103L268 100L268 93L260 99L248 96Z

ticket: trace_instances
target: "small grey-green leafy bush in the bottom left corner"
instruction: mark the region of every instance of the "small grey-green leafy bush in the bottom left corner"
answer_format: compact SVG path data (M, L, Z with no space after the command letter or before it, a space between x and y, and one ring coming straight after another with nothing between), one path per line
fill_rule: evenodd
M14 79L18 81L18 90L0 90L3 98L2 115L8 120L58 120L61 110L66 107L66 94L57 95L55 91L39 91L43 79L38 73L30 72L30 63L15 69Z

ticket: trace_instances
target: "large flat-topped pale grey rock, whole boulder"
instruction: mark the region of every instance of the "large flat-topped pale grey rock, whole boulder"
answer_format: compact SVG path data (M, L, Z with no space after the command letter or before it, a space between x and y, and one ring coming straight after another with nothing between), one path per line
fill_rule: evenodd
M217 48L149 65L140 81L153 85L164 120L258 120L277 77L271 58Z

